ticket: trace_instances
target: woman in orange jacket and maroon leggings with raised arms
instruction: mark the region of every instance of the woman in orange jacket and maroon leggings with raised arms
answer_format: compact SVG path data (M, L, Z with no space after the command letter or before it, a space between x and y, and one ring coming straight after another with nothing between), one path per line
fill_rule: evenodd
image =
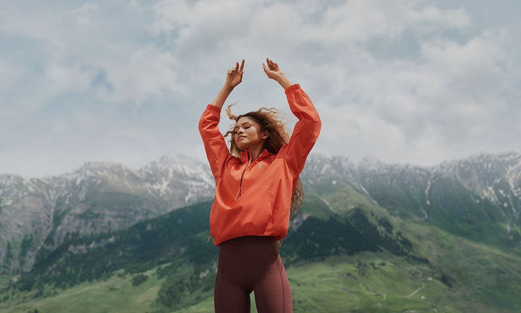
M320 132L311 100L277 63L266 59L266 75L285 90L299 119L289 138L278 111L261 108L230 119L237 123L230 150L219 132L221 108L242 81L244 60L228 70L226 83L204 111L199 130L215 177L210 237L219 246L214 289L216 312L250 312L255 291L259 312L291 312L291 289L276 242L286 237L289 218L302 203L298 184L306 156Z

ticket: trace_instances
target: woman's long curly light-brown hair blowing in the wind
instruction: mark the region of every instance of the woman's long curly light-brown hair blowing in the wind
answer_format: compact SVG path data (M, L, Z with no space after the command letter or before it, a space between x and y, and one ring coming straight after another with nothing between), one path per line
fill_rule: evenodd
M285 116L283 116L283 114L275 108L260 108L257 111L248 112L238 116L231 113L231 107L235 104L237 104L237 102L232 103L228 106L228 109L226 109L228 118L230 118L230 120L234 120L235 124L237 124L237 121L239 121L239 119L244 116L247 116L257 122L261 126L261 132L267 131L269 134L268 138L266 138L264 148L270 153L279 153L280 148L282 148L282 146L287 144L290 140L288 127L286 127L286 125L282 122ZM237 146L237 142L235 142L233 136L235 134L233 130L234 127L235 125L232 125L231 129L226 132L224 136L227 137L229 134L232 134L229 141L230 153L235 156L240 156L241 150ZM300 213L303 202L304 190L302 188L302 182L299 178L295 191L291 196L290 216L293 216L296 213Z

